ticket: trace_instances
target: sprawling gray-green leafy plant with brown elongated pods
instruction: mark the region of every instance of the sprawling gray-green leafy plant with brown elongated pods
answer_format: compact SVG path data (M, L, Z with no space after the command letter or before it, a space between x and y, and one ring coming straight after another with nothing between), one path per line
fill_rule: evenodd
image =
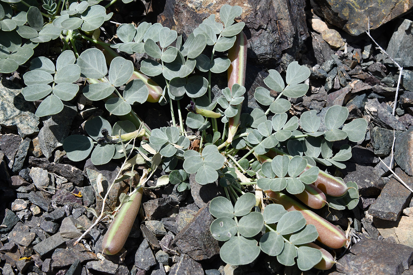
M339 148L333 143L346 138L350 142L363 140L366 121L355 119L345 124L348 109L342 106L327 110L323 127L314 110L304 111L299 118L292 116L288 98L302 97L309 89L310 70L298 62L292 62L282 72L285 80L278 71L269 70L264 79L266 87L258 87L254 93L262 109L242 114L247 92L247 38L242 31L245 24L235 21L242 13L241 7L223 5L221 21L211 15L185 41L159 23L121 24L116 30L118 43L114 44L100 40L90 10L104 20L110 18L110 14L103 16L100 5L73 3L60 15L59 9L55 11L50 6L48 14L55 19L49 25L57 27L65 49L72 51L62 51L56 63L45 57L33 59L30 71L23 76L28 86L22 92L24 97L32 101L43 99L38 116L55 114L65 102L78 96L75 82L82 76L89 83L81 91L86 99L103 100L106 110L120 119L114 124L104 115L88 119L84 123L88 136L70 135L63 142L69 159L81 161L90 155L93 164L101 165L125 157L115 181L131 179L136 174L135 165L147 167L143 181L157 168L162 169L164 178L160 177L151 188L171 183L183 192L190 189L190 174L195 174L195 182L200 185L218 182L225 198L211 201L210 211L216 220L210 229L214 238L225 242L221 258L226 263L251 263L263 252L276 256L286 266L297 263L301 270L331 267L331 255L312 242L326 240L330 247L339 248L344 243L342 232L291 197L313 209L326 204L335 209L356 206L357 185L346 184L317 165L344 169L343 161L351 157L351 143L342 142L344 145ZM37 16L38 12L33 11L28 14ZM34 22L32 19L28 20L29 25ZM23 25L19 30L24 30ZM39 31L38 37L44 34ZM100 48L78 52L76 41L80 39ZM19 51L20 46L8 49L9 53ZM123 55L145 53L148 58L142 60L138 71L113 49ZM14 56L10 54L7 59ZM228 87L222 90L221 97L212 100L212 73L225 71ZM164 84L152 83L150 77L164 78L159 81ZM276 98L271 96L274 93L278 94ZM147 101L169 104L171 126L152 130L145 127L134 109ZM181 112L181 101L190 103L186 117ZM116 215L104 238L104 253L115 254L123 246L129 234L126 229L139 209L140 192L147 188L143 186L140 183L136 191L128 197L124 195L121 206L113 212ZM99 190L97 194L100 195ZM111 217L113 213L102 210L96 223L105 214Z

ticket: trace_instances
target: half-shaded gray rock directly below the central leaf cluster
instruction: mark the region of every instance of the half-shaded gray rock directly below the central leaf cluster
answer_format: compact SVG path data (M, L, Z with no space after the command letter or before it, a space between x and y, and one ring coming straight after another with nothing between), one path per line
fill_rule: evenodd
M211 199L223 195L223 189L218 182L200 185L195 181L195 174L189 176L189 184L191 185L191 195L199 208L207 205Z

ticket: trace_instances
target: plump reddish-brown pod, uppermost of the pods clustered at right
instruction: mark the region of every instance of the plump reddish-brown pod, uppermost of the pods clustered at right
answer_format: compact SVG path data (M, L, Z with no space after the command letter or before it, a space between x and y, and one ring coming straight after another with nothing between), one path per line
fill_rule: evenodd
M284 152L281 152L278 149L270 149L268 153L266 154L267 156L274 158L277 155L285 155ZM292 159L292 156L287 155L290 159ZM307 164L306 168L304 171L310 169L313 167L310 164ZM339 180L338 178L325 173L320 170L318 173L318 178L315 183L313 183L318 189L323 191L324 194L327 194L332 197L341 197L342 195L347 193L347 190L349 190L349 187L342 181Z

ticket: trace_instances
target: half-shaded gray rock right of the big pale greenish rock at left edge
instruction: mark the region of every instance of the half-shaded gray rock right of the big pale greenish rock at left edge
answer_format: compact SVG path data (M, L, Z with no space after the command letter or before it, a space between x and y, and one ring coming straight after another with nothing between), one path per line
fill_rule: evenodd
M50 159L57 147L63 145L63 140L69 135L70 126L76 114L76 106L66 102L60 113L46 116L38 138L40 148L47 159Z

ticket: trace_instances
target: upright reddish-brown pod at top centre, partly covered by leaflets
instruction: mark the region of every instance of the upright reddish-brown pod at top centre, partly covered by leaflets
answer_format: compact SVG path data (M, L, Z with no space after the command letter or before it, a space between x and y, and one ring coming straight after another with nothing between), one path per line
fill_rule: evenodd
M247 71L247 36L243 31L237 34L234 45L228 50L228 58L231 60L228 68L228 88L232 89L235 83L244 86ZM241 107L242 102L237 104L237 114L228 120L228 143L233 141L240 125Z

